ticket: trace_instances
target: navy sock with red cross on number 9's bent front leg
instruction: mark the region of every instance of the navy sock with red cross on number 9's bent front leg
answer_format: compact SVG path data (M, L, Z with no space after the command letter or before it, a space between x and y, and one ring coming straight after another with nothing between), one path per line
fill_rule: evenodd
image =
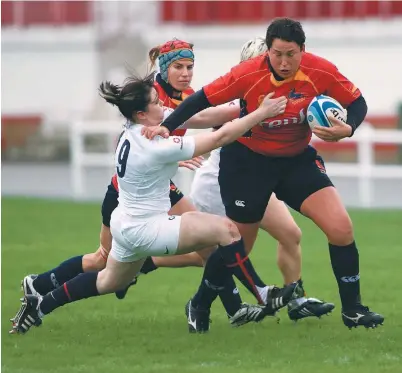
M240 280L240 282L256 297L258 303L263 304L258 288L266 284L257 275L250 259L244 250L243 239L230 245L219 246L218 250L226 266Z

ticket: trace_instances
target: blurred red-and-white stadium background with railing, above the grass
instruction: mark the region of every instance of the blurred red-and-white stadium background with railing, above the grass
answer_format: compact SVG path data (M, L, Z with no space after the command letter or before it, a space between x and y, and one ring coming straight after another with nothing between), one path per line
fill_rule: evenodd
M3 195L100 200L122 119L99 83L145 72L148 50L177 37L194 43L197 90L282 16L368 102L353 140L313 140L344 201L402 208L402 1L3 1ZM192 173L177 179L188 192Z

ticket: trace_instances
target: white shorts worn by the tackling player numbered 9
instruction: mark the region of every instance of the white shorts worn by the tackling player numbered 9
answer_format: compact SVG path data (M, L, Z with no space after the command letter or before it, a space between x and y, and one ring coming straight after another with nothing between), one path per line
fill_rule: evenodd
M167 213L134 218L118 206L112 213L110 255L118 262L135 262L147 256L174 255L179 244L180 216Z

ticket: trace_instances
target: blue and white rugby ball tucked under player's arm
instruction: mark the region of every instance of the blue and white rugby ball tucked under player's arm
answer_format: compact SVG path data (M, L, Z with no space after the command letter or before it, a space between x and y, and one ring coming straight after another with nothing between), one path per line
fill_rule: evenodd
M310 128L332 127L328 116L333 116L346 123L347 111L332 97L324 95L314 97L307 109L307 121Z

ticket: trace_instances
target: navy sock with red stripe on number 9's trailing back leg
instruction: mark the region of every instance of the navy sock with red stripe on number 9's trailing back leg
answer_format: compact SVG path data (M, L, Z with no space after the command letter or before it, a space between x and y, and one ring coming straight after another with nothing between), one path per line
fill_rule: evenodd
M99 272L81 273L43 297L41 312L46 315L66 303L99 295L96 280Z

